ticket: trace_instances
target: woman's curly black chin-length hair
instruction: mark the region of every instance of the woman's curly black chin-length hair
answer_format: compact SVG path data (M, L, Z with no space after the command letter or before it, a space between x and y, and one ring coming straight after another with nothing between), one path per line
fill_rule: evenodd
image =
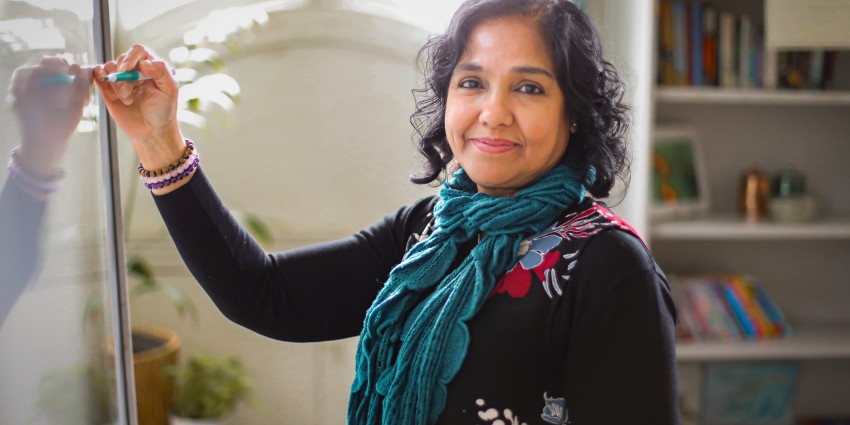
M426 162L410 180L427 184L446 175L453 158L445 130L452 73L473 29L483 21L507 16L534 20L543 39L549 40L564 109L578 126L561 162L583 173L591 195L608 196L617 177L628 180L629 108L623 103L623 81L602 57L596 28L568 0L468 0L455 12L445 34L428 40L418 55L425 87L413 90L416 111L410 117Z

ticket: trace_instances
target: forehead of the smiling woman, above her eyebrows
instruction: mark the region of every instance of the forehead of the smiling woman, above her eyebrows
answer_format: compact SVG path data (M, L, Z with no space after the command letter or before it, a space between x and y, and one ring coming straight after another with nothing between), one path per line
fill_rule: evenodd
M460 62L480 65L535 65L553 68L552 55L531 18L508 16L476 25L466 40Z

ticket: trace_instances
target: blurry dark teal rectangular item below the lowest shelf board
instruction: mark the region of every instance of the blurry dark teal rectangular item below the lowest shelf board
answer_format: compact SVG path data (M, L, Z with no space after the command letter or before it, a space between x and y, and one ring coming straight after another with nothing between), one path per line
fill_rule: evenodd
M793 425L800 375L795 362L717 362L705 366L700 423Z

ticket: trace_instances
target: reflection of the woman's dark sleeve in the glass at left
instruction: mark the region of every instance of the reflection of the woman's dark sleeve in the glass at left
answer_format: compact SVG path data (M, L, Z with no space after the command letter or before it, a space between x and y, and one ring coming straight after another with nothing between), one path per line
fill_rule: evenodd
M44 201L6 179L0 192L0 326L35 274L44 210Z

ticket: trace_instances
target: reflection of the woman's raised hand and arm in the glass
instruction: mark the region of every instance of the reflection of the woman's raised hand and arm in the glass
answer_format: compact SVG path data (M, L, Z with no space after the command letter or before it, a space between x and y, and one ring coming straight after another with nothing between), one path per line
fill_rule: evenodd
M44 58L15 70L10 98L21 126L21 145L0 192L0 325L38 263L44 202L61 178L68 140L88 103L91 69ZM17 189L17 190L16 190Z

